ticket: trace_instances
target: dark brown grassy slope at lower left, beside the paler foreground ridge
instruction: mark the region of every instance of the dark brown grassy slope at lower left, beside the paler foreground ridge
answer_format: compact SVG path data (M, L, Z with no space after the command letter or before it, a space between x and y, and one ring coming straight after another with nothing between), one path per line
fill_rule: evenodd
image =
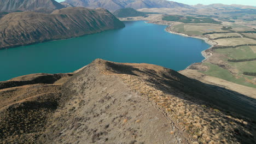
M28 84L0 89L0 143L36 143L42 134L46 119L57 109L61 84L69 79L63 75L53 84L43 84L45 79L41 79L42 82L30 85L29 80L42 75L47 74L26 75L2 82L28 81Z

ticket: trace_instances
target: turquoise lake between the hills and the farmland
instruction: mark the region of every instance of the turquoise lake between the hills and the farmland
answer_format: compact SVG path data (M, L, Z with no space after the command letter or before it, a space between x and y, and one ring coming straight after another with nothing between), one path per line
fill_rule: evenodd
M114 62L151 63L182 70L201 62L203 40L167 33L166 26L144 21L84 37L0 50L0 81L33 73L69 73L96 58Z

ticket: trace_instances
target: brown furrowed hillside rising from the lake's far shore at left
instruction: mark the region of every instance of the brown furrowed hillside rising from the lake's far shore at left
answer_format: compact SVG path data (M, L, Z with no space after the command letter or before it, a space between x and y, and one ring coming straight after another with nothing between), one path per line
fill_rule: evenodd
M51 14L10 13L0 21L0 49L122 27L123 22L101 8L64 8Z

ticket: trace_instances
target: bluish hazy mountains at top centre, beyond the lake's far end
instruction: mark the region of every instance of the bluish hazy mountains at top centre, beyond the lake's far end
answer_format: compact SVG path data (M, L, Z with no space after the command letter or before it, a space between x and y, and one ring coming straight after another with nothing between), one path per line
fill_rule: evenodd
M121 8L188 8L193 9L187 4L166 1L166 0L66 0L65 3L75 7L105 8L117 10Z

